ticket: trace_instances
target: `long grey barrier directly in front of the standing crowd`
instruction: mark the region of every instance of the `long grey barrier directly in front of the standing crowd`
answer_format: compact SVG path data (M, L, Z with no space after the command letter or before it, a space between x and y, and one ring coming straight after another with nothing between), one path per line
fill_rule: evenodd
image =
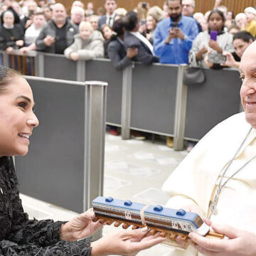
M198 141L240 110L240 78L232 68L204 69L206 82L187 87L186 65L135 63L117 71L110 60L74 62L48 53L38 53L36 63L41 77L108 82L107 124L122 127L122 139L136 129L174 137L174 149L181 150L183 139Z

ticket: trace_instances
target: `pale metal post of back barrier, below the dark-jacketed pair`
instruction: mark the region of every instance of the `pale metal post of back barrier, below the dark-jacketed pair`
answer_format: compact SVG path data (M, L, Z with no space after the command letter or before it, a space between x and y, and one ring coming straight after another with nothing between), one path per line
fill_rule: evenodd
M131 105L132 105L132 68L129 65L123 70L122 78L122 117L121 117L121 136L122 139L130 138Z

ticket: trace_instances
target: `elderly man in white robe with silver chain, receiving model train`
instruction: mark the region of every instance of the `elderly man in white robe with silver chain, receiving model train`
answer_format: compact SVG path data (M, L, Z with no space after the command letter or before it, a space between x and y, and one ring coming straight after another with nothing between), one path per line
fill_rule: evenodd
M167 206L210 218L206 223L228 239L209 240L191 233L194 248L173 250L170 255L256 255L255 73L256 43L252 43L240 62L240 97L245 112L208 132L163 186L171 197ZM180 237L176 240L183 244Z

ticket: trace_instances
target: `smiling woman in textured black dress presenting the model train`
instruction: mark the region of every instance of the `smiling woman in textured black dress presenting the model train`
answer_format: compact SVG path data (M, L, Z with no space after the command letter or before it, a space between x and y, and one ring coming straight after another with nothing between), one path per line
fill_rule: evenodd
M28 220L23 212L11 156L28 152L29 137L38 126L33 93L14 70L0 66L0 255L135 255L164 241L147 229L125 230L95 242L85 239L102 224L92 210L67 223ZM3 139L4 138L4 139Z

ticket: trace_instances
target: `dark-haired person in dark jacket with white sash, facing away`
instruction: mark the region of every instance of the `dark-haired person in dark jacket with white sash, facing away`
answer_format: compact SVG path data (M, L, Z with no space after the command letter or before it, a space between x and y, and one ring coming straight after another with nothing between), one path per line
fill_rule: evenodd
M143 64L158 63L159 58L154 56L153 46L139 33L139 19L134 11L124 17L124 48L138 48L138 53L132 60L141 61Z

